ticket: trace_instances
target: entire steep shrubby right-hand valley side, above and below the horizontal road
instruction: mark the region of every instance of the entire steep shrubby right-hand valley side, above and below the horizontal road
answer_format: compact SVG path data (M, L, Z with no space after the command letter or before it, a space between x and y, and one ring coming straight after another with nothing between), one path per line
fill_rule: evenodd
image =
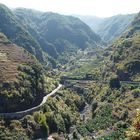
M106 49L104 58L104 64L97 62L99 58L94 61L94 65L95 62L98 64L98 71L90 70L93 75L87 74L85 77L93 79L91 83L81 80L69 80L66 83L66 86L69 84L69 87L82 94L91 105L91 117L84 116L88 119L81 122L77 132L83 137L92 136L95 139L139 140L140 82L132 81L140 81L140 13L130 28ZM81 78L79 70L73 73L75 79Z

